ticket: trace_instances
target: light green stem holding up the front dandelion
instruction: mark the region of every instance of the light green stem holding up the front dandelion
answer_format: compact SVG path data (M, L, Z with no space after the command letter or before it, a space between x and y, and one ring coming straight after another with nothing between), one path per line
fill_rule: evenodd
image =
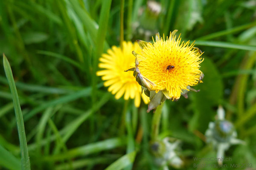
M158 133L159 133L159 125L160 125L163 105L164 105L164 102L157 107L157 110L155 111L153 119L152 119L152 126L151 126L151 139L152 140L156 140Z

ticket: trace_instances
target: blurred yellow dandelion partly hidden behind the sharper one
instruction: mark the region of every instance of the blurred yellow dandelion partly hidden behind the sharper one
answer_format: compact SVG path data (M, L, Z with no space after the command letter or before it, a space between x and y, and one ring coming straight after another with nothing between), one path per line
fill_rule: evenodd
M124 99L134 99L136 107L140 106L140 96L142 96L145 104L149 102L148 96L141 94L141 86L134 79L131 71L125 72L134 66L134 56L132 51L140 51L140 46L132 42L123 42L123 49L113 46L108 49L108 54L102 54L99 59L99 68L104 68L97 71L97 76L102 76L104 86L108 87L108 91L115 94L115 98L119 99L124 94Z

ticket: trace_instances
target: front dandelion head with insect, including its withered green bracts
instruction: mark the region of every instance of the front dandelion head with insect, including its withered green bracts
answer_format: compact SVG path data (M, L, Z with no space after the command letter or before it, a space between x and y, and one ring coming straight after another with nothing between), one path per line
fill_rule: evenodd
M187 97L189 90L204 78L200 63L204 59L194 43L176 40L175 33L166 38L156 34L153 44L137 40L141 51L133 51L135 59L134 77L150 97L148 112L166 99L177 101L180 95Z

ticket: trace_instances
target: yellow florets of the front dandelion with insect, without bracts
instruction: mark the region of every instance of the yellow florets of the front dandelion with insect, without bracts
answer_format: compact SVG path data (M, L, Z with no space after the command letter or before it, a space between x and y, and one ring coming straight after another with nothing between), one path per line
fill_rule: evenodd
M203 59L194 43L181 42L180 36L175 39L173 33L166 40L158 34L153 44L148 42L135 52L140 73L155 84L152 90L167 91L170 98L179 99L183 90L200 82L199 64Z

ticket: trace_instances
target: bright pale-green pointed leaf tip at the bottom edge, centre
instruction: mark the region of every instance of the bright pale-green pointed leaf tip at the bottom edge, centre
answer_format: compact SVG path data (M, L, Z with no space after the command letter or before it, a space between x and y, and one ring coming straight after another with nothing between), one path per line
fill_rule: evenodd
M114 161L111 165L109 165L105 170L122 170L125 167L129 166L134 162L136 151L128 153L121 158Z

